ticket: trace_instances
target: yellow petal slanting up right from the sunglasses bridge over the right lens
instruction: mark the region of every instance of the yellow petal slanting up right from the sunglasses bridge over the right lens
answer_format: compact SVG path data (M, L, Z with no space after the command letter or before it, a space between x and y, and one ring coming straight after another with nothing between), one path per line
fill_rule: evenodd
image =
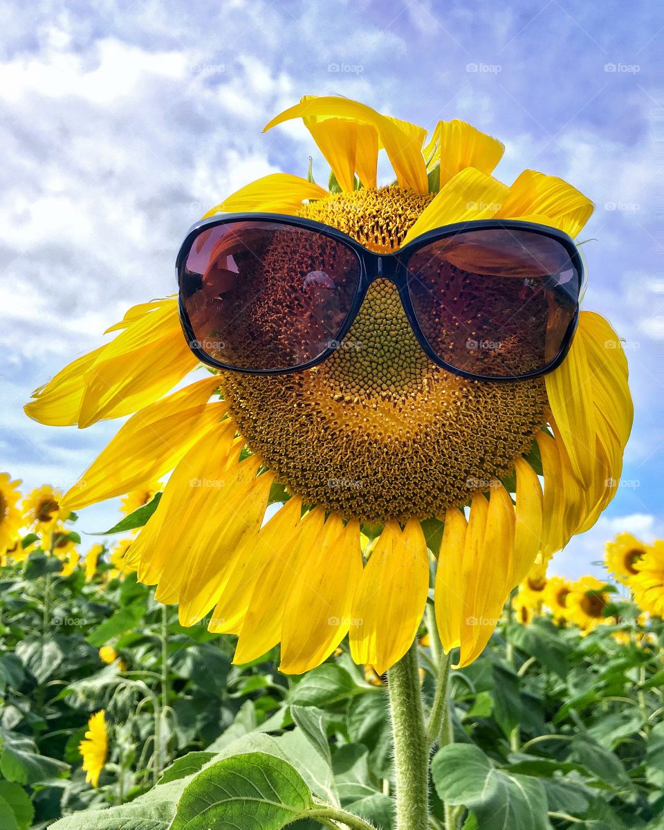
M475 168L466 168L451 178L424 208L417 222L408 230L402 247L434 227L486 219L500 208L507 186L493 176Z

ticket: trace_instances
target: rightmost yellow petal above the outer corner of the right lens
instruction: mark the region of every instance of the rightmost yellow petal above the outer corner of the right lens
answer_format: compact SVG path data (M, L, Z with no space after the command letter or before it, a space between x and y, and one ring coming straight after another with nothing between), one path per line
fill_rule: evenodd
M590 199L564 179L524 170L515 178L496 217L509 219L540 214L548 217L551 227L574 238L593 210Z

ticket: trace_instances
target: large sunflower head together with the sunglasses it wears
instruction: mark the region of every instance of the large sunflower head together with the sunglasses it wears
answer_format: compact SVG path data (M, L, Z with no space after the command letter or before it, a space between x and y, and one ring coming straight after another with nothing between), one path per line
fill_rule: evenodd
M466 666L535 559L588 530L620 478L627 362L608 322L579 313L574 238L593 204L534 170L501 182L503 145L460 120L427 139L305 96L266 129L293 118L330 189L274 173L212 208L178 256L179 301L129 309L26 412L132 415L64 503L172 471L125 559L184 626L212 613L236 634L235 662L281 643L281 671L300 673L348 635L383 674L422 620L434 525L437 627Z

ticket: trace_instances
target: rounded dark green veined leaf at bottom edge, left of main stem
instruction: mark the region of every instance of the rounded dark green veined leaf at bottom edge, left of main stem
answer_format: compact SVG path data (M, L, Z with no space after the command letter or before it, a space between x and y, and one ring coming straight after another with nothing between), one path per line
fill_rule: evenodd
M309 788L286 761L258 752L234 755L188 784L170 830L281 830L313 806Z

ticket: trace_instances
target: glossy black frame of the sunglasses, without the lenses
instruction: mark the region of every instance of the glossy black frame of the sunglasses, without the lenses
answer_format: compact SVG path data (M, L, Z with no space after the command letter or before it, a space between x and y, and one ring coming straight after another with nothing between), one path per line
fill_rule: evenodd
M319 232L327 237L332 237L338 242L344 243L347 247L354 251L355 256L357 256L359 280L348 314L346 315L339 332L334 336L334 339L330 340L330 345L314 359L308 360L303 364L297 364L296 366L289 366L281 369L241 369L237 366L232 366L231 364L224 364L221 361L210 357L203 351L203 349L201 349L183 303L183 267L187 261L193 242L199 234L209 230L212 227L231 224L233 222L274 222L277 224L305 228L306 230ZM422 329L417 322L417 316L415 315L415 310L413 308L413 300L411 299L410 291L408 290L408 259L413 255L413 253L420 250L420 248L426 247L431 242L452 237L461 232L499 229L504 229L505 231L528 231L560 242L569 254L569 260L574 266L574 271L576 272L576 276L579 281L577 292L577 297L579 299L576 301L574 317L570 320L567 330L565 331L558 354L556 354L553 359L549 360L549 363L545 364L540 369L535 369L524 374L510 374L505 376L483 375L468 372L466 369L458 369L456 366L448 364L445 360L438 356L434 349L432 349L432 346L429 344L427 338L422 332ZM408 324L413 330L413 334L415 334L417 342L433 363L442 367L442 369L447 369L447 371L452 372L452 374L461 376L462 378L496 381L497 383L538 378L543 374L547 374L552 372L554 369L557 369L563 362L569 351L569 347L572 344L572 340L574 339L574 332L579 324L579 304L584 273L583 260L572 237L569 237L569 235L564 231L559 231L558 228L549 227L548 225L540 225L536 222L525 222L520 219L471 219L466 220L466 222L454 222L453 224L432 228L432 230L422 233L421 236L413 239L412 242L408 242L407 245L404 245L399 248L398 251L394 251L391 254L378 254L374 251L369 251L369 248L366 248L364 245L356 242L354 238L350 237L347 233L339 231L334 227L330 227L330 225L325 225L323 222L315 222L313 219L289 216L284 213L258 212L223 213L219 216L203 219L194 224L189 229L187 236L184 237L183 243L180 246L176 259L175 271L178 279L178 305L183 333L187 338L189 348L193 351L193 354L198 357L201 363L212 366L214 369L223 369L228 372L240 372L242 374L289 374L291 372L301 372L305 369L311 369L314 366L317 366L325 359L329 358L330 354L334 354L334 352L339 348L339 344L341 344L341 341L344 339L345 335L348 334L350 327L353 325L354 320L358 315L359 309L364 302L364 297L366 296L371 283L376 280L387 279L397 286L403 310L408 318Z

